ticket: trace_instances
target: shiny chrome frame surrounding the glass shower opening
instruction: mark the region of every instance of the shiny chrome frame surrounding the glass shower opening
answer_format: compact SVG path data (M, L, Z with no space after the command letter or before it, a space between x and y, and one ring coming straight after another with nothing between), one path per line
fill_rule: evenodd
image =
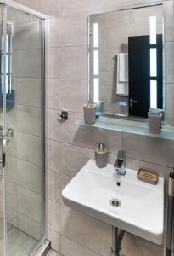
M0 0L0 6L3 6L3 54L6 56L7 52L7 45L6 45L6 40L7 40L7 14L8 14L8 8L11 9L16 9L18 11L21 11L25 13L26 15L33 15L36 16L36 18L39 18L42 20L42 84L43 84L43 91L42 91L42 105L45 106L45 21L47 20L48 16L43 15L40 12L37 12L36 10L27 8L20 3L15 3L14 1L11 0ZM7 190L6 190L6 183L7 183L7 177L6 177L6 172L5 172L5 155L6 155L6 114L7 114L7 109L6 109L6 87L7 87L7 81L6 81L6 57L3 57L3 135L2 135L2 143L1 143L1 149L2 149L2 154L0 156L0 164L2 165L2 172L3 172L3 256L7 256ZM45 137L45 111L42 111L42 135ZM45 140L42 140L42 147L44 148L45 151ZM45 152L44 152L45 153ZM43 168L45 169L45 158L42 160L43 161ZM44 170L44 182L45 182L45 170ZM44 184L45 187L45 184ZM43 197L44 201L43 204L45 206L45 191L43 191ZM45 215L45 211L44 211ZM43 217L45 218L45 216ZM45 222L43 222L43 238L41 241L38 242L37 246L35 247L34 251L31 252L31 255L38 255L38 256L44 256L48 253L48 250L50 249L50 242L45 238Z

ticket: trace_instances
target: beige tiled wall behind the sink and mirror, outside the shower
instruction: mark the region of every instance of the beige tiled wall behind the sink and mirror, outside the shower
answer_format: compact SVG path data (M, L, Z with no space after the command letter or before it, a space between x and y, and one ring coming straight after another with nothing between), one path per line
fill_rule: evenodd
M87 102L87 15L109 9L130 7L150 0L19 0L51 18L48 20L47 47L47 236L52 247L65 256L109 256L112 228L65 207L61 189L69 183L89 158L100 141L109 149L113 162L117 150L126 150L126 165L147 166L168 177L174 163L174 143L153 137L105 131L76 125ZM172 8L170 8L172 11ZM173 93L174 50L172 16L169 15L167 55L170 66L166 73ZM172 105L172 103L171 103ZM58 112L69 110L69 120L60 122ZM174 108L171 108L173 115ZM145 195L144 195L145 196ZM163 248L128 235L123 239L125 256L162 256Z

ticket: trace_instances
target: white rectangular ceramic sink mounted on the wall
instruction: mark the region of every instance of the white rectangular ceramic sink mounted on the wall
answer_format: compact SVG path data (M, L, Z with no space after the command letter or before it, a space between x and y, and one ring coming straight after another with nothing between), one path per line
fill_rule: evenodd
M164 179L157 185L144 183L137 172L126 169L121 186L116 185L112 165L99 169L89 160L62 191L65 205L98 218L136 236L161 244L164 226ZM121 201L113 207L110 200Z

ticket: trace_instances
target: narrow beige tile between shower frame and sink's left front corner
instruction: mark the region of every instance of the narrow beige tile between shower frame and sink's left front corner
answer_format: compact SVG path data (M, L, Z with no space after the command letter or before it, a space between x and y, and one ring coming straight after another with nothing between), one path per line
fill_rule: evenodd
M60 173L48 170L46 177L46 185L46 197L52 201L61 202Z

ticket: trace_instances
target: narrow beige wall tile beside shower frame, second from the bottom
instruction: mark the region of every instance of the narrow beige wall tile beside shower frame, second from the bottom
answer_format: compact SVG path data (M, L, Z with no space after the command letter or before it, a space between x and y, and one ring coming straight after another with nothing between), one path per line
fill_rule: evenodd
M48 228L60 233L60 204L48 199L46 209Z

